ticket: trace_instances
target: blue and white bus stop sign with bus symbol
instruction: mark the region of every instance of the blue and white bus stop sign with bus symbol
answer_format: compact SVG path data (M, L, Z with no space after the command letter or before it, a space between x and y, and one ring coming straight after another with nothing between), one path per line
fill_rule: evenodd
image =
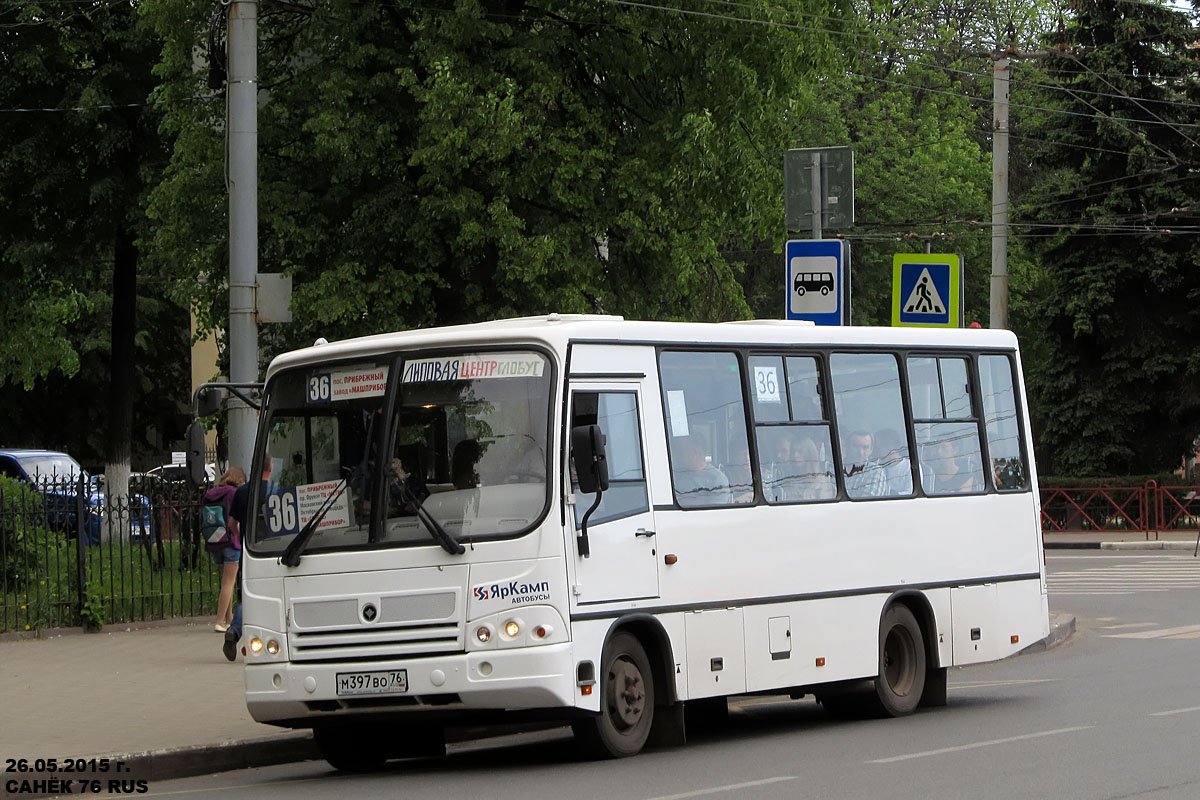
M784 248L786 319L817 325L846 325L848 245L841 239L802 239Z

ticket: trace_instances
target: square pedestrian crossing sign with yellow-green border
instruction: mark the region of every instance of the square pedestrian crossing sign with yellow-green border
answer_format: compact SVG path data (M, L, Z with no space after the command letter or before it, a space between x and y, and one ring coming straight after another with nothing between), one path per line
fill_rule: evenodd
M892 324L962 327L962 257L947 253L893 255Z

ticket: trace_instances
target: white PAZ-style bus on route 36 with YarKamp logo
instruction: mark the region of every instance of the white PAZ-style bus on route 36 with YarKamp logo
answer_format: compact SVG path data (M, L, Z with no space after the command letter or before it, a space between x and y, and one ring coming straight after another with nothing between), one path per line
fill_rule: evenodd
M731 694L899 716L1049 631L1008 331L415 330L275 359L259 425L246 700L337 768L528 720L631 756Z

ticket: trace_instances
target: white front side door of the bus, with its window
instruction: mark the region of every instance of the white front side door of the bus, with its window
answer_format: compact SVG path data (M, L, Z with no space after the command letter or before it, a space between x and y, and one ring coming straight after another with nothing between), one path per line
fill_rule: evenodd
M570 427L599 425L605 434L608 489L588 518L590 555L580 555L583 515L595 494L583 494L569 461L569 492L575 495L568 530L574 531L575 579L581 604L659 596L654 509L646 474L641 381L571 384ZM570 437L566 438L568 443ZM568 444L570 446L570 444Z

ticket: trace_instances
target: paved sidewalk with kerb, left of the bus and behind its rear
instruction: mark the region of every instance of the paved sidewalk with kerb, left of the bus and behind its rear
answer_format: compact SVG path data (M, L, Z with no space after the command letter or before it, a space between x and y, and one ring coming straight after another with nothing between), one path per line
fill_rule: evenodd
M1074 630L1056 614L1028 649ZM0 758L114 756L151 781L318 758L308 732L250 717L221 643L209 619L0 640Z

